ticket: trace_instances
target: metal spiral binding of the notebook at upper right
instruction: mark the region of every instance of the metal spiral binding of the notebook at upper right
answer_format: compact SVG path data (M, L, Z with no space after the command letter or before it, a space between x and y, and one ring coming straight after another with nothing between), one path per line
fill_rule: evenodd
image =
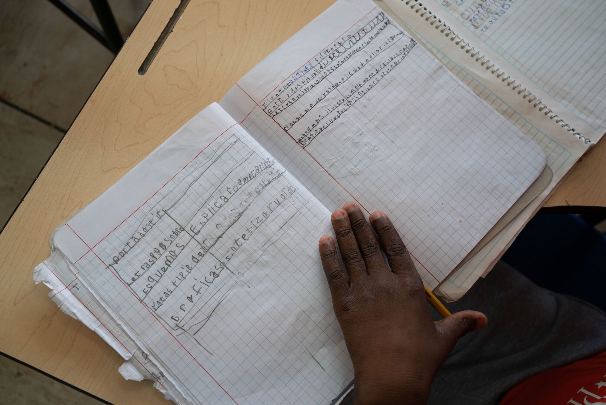
M450 41L453 41L454 44L459 45L462 50L465 50L465 53L468 53L471 58L474 58L476 62L486 68L486 70L490 70L497 78L501 79L502 82L506 82L507 86L518 92L519 95L522 96L528 103L532 104L534 108L538 109L540 112L544 113L545 116L548 116L550 119L554 119L556 124L559 124L562 128L572 133L572 135L576 136L576 138L583 141L585 144L593 143L591 140L581 133L577 132L573 127L564 122L564 119L559 118L556 113L554 113L547 105L545 105L540 98L536 97L528 91L527 89L521 89L521 84L516 84L516 81L511 79L510 76L505 75L499 68L495 68L494 64L490 63L490 59L487 59L484 55L480 55L480 52L474 49L468 42L465 42L460 36L456 35L452 28L450 28L444 21L442 21L438 16L432 13L423 5L422 2L418 0L401 0L405 2L406 5L410 5L412 10L415 10L422 18L425 18L425 21L429 22L430 25L436 28L436 30L440 30L440 33L443 33L447 38L450 38ZM427 15L427 17L425 17ZM431 20L431 22L430 22Z

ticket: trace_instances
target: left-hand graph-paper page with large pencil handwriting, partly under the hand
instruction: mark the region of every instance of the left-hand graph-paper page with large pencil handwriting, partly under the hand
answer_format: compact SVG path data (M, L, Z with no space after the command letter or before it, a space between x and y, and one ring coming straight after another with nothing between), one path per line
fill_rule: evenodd
M328 403L353 378L316 252L329 215L215 104L55 245L190 403Z

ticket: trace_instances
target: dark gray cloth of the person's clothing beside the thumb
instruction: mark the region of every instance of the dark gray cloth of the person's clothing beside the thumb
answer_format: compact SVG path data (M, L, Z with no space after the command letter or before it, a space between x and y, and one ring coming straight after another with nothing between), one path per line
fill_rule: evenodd
M526 378L606 350L602 310L542 289L502 262L447 307L482 311L488 326L456 344L431 385L431 405L498 404Z

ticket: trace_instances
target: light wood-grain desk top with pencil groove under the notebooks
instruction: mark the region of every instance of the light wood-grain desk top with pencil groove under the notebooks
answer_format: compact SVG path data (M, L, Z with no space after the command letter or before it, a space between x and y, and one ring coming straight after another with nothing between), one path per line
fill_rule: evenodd
M125 381L122 358L35 286L48 235L332 1L191 0L144 76L137 70L178 0L155 0L0 235L0 351L119 404L165 404ZM606 206L606 142L547 205Z

